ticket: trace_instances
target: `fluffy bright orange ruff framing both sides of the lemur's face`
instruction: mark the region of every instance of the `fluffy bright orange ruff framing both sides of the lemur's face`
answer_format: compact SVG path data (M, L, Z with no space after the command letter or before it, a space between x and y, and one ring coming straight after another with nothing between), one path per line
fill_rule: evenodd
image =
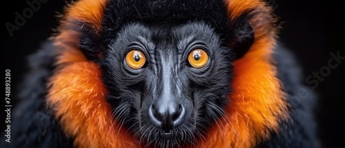
M53 38L57 46L57 70L50 78L47 102L67 136L76 147L140 147L111 116L107 89L101 81L99 65L88 61L79 49L80 33L68 29L73 20L92 25L101 32L106 1L82 0L70 5ZM213 125L196 147L255 147L277 131L280 120L288 118L282 85L276 78L271 54L276 30L270 8L259 0L226 1L230 19L253 10L250 25L255 42L246 55L234 63L233 93L226 116Z

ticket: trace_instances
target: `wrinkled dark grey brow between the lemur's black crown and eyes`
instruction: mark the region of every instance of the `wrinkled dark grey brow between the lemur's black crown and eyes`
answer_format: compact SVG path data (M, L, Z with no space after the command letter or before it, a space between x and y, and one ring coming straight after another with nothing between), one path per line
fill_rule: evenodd
M148 45L149 48L175 45L179 50L195 41L209 45L217 45L220 41L214 28L203 22L186 23L170 28L130 23L117 34L115 40L121 42L138 41Z

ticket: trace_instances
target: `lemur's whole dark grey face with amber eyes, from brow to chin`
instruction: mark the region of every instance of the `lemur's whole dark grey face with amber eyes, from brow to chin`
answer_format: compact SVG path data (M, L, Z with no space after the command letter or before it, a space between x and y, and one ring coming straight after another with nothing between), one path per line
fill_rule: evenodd
M204 23L126 25L102 61L115 120L147 145L204 138L228 103L232 66L221 45Z

